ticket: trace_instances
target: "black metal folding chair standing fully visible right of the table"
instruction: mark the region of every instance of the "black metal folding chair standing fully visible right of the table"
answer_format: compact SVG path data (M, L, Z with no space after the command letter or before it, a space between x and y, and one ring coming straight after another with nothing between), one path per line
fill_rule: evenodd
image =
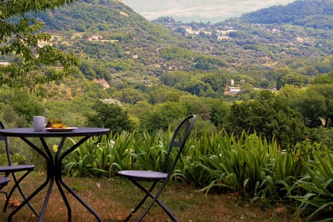
M186 140L189 137L189 133L191 132L195 121L196 121L196 116L192 114L189 117L185 118L182 121L182 123L180 123L180 125L176 128L167 155L165 156L164 162L162 164L161 171L128 170L128 171L118 172L119 176L128 178L131 182L133 182L134 185L139 187L139 189L144 191L144 193L146 194L144 198L141 200L141 202L137 205L137 207L135 207L135 209L127 216L125 221L128 221L130 217L133 216L133 214L135 214L137 210L139 210L139 208L142 206L142 204L146 201L148 197L152 198L151 203L148 205L146 210L144 210L143 214L139 217L137 221L142 221L142 219L144 219L144 216L146 216L146 214L151 209L154 203L160 205L160 207L162 207L164 212L167 213L167 215L170 217L172 221L178 221L175 214L173 214L170 208L167 207L167 205L165 205L162 202L162 200L160 200L158 197L162 193L165 185L167 185L167 182L171 177L171 173L173 172L173 169L176 167L180 154L182 153L182 149L185 146ZM176 150L177 153L176 157L173 160L171 167L167 167L167 163L169 161L171 153L173 153L174 150ZM147 189L144 185L142 185L142 182L151 182L150 184L151 187ZM157 189L155 194L153 194L153 189L159 182L162 184L160 185L160 188Z

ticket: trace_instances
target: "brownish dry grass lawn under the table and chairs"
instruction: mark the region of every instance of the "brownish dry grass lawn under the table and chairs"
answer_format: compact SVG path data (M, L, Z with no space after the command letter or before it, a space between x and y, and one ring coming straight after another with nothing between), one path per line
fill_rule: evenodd
M31 173L22 182L22 187L26 191L32 191L35 187L42 184L44 178L44 173ZM142 191L139 191L131 182L123 178L65 177L64 180L96 210L102 221L123 221L143 196ZM8 188L6 187L5 190L8 190ZM46 189L31 202L38 211L41 209L45 194ZM4 195L0 195L0 209L2 210ZM96 221L71 194L67 196L69 203L71 203L72 221ZM198 191L194 187L176 182L170 182L167 185L161 199L173 210L179 221L300 221L298 217L293 216L293 207L289 205L252 203L240 200L239 196L234 194L205 195L205 193ZM22 200L18 193L12 198L12 205L7 212L0 212L0 222L7 221L7 216L17 204L17 200ZM135 221L139 213L141 212L137 212L131 221ZM25 206L15 214L12 221L37 221L37 218L33 215L30 208ZM67 209L56 189L56 184L53 187L44 221L67 221ZM144 221L170 220L158 205L154 205Z

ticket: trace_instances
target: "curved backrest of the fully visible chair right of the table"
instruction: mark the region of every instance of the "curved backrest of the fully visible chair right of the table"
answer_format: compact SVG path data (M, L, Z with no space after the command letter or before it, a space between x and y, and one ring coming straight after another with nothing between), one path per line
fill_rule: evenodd
M191 130L194 127L195 122L196 122L196 115L191 114L178 125L175 132L173 133L168 153L165 156L164 162L162 164L162 172L169 173L169 176L172 173L173 169L176 167L180 154L182 153L187 138L189 137L189 133L191 133ZM171 156L171 153L173 153L173 150L177 148L178 151L176 152L177 154L172 162L171 168L167 169L167 164Z

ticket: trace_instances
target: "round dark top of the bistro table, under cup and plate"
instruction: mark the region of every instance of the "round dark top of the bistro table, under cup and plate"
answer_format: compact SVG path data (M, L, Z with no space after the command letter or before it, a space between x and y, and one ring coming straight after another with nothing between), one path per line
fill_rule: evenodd
M33 128L6 128L0 130L0 135L6 137L80 137L94 136L109 133L108 128L65 128L63 130L45 128L42 131L35 131Z

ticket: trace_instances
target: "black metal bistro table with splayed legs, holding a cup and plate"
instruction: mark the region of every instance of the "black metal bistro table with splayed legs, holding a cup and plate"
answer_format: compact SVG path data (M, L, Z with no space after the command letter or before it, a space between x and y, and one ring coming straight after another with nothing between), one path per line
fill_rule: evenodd
M85 201L76 194L76 192L73 191L63 180L62 180L62 171L61 171L61 163L62 160L66 155L74 151L78 146L83 144L87 139L89 139L92 136L99 136L103 134L107 134L109 132L108 128L69 128L67 130L55 130L55 131L49 131L49 130L43 130L40 132L36 132L33 130L33 128L6 128L3 130L0 130L0 135L6 136L6 137L19 137L26 144L31 146L35 151L40 153L42 157L45 158L46 164L47 164L47 176L45 182L40 185L40 187L37 187L35 191L31 194L31 196L28 196L26 200L24 200L21 205L19 205L15 210L13 210L10 215L8 216L8 221L11 221L12 216L19 211L28 201L30 201L34 196L36 196L46 185L49 185L49 189L47 190L44 204L42 207L42 210L39 214L38 221L43 221L44 213L46 210L46 206L49 203L49 198L51 196L53 184L56 181L56 185L60 191L60 194L62 196L62 199L64 200L66 206L67 206L67 212L68 212L68 221L71 221L71 206L69 205L69 202L67 200L67 197L65 195L64 189L62 187L65 187L69 193L71 193L89 212L91 212L98 221L101 221L99 214L97 214L92 207L87 205ZM39 147L33 142L31 142L30 137L37 137L40 139L40 142L42 143L42 147ZM51 149L46 144L45 138L48 137L60 137L60 144L58 146L58 151L56 152L56 155L53 155L51 153ZM67 137L80 137L80 140L71 146L71 148L67 149L64 152L62 151L62 146L65 144L65 139Z

